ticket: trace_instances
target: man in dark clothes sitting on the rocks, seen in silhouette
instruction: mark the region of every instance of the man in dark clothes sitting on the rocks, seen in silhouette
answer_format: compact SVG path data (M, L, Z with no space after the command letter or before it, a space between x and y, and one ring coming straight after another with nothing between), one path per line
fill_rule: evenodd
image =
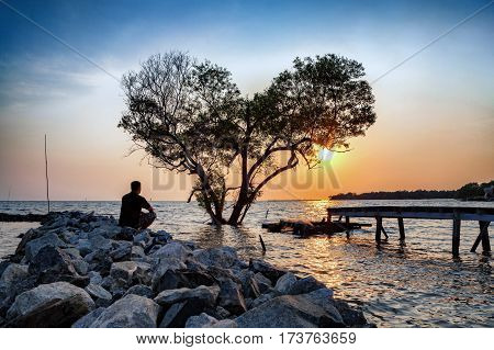
M122 206L120 208L120 226L128 226L136 229L144 229L149 227L156 218L156 213L153 206L146 201L141 193L141 182L132 181L131 192L122 197ZM142 208L148 213L141 212Z

